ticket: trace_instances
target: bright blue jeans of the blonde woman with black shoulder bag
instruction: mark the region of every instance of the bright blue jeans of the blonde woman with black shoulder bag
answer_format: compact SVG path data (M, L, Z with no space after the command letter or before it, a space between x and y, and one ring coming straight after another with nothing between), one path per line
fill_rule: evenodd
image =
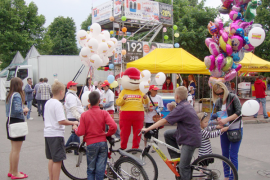
M243 138L243 128L241 128L241 133ZM220 136L222 155L231 160L237 171L238 171L238 152L241 141L242 139L238 142L229 141L227 133L224 133ZM229 178L230 180L234 179L232 172L230 172L230 169L226 164L223 164L223 169L226 178Z

